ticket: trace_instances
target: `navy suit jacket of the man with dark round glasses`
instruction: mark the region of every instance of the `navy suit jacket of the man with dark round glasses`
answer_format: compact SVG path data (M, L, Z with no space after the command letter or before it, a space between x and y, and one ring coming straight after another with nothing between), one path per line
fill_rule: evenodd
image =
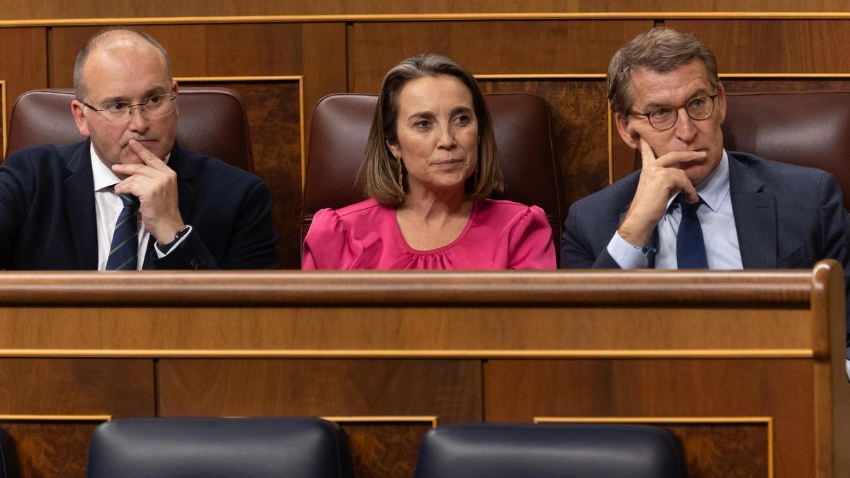
M808 269L820 259L836 259L850 286L850 215L836 179L819 169L727 152L729 194L744 269ZM632 202L639 177L640 171L630 174L570 207L561 242L564 267L620 268L608 253L608 243ZM654 234L649 245L657 241ZM650 254L649 266L654 265Z

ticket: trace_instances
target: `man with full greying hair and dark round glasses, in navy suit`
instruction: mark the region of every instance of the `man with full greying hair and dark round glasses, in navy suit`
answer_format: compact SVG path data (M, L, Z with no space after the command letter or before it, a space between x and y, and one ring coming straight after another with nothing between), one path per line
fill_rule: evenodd
M832 175L723 149L726 95L711 48L654 28L608 68L615 125L643 168L575 202L563 266L798 269L850 274L848 214Z

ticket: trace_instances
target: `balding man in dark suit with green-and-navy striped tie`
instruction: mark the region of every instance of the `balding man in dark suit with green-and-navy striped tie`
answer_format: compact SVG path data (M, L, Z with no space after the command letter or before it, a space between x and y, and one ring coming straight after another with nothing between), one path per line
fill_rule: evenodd
M95 35L77 55L74 88L88 140L17 151L0 168L0 267L275 267L268 188L177 144L178 85L156 40Z

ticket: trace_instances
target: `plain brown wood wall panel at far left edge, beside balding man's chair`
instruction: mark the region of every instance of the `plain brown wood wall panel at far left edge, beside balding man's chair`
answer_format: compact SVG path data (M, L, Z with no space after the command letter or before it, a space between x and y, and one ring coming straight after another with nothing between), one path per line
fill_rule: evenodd
M0 80L5 82L7 119L20 94L48 84L46 35L44 28L0 28Z

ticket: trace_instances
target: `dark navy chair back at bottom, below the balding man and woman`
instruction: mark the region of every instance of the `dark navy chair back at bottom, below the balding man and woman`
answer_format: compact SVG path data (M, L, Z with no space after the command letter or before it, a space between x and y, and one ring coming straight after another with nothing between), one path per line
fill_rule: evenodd
M343 432L319 418L138 418L101 424L88 477L350 476Z

